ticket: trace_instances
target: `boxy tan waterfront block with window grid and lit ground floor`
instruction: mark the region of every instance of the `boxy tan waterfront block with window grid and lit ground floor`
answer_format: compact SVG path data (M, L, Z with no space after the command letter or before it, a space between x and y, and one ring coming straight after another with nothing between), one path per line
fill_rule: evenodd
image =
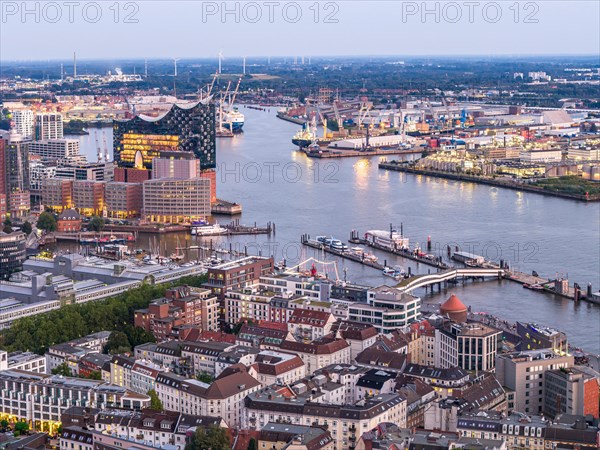
M143 183L145 222L192 223L210 215L210 180L158 178Z

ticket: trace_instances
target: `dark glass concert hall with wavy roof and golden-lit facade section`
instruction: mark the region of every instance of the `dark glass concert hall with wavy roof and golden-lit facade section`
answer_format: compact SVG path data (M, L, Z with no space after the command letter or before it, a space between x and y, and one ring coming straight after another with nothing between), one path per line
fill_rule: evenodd
M181 152L193 154L201 169L214 169L215 107L211 103L175 104L162 116L138 115L113 122L114 160L119 167L151 169L152 160Z

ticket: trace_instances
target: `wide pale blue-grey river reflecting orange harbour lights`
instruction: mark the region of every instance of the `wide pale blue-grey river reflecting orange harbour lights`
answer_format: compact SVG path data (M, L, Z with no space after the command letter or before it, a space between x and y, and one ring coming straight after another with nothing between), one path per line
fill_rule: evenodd
M307 158L291 144L298 126L275 116L276 110L257 111L241 107L246 115L244 133L218 140L217 193L219 198L243 206L241 222L259 225L275 222L274 236L213 238L215 246L247 248L250 253L274 254L288 263L317 256L299 245L303 233L333 235L342 240L352 229L387 229L402 224L411 244L424 246L431 236L434 252L441 256L446 245L508 261L524 272L544 277L556 275L578 282L584 289L600 288L600 204L575 202L533 193L456 182L377 167L381 157ZM112 147L112 129L99 131ZM94 133L81 137L82 153L96 159ZM111 151L112 154L112 151ZM218 217L227 222L230 219ZM142 238L136 246L147 244ZM191 236L162 238L167 251L191 243ZM399 264L413 273L429 267L374 252L380 261ZM195 258L196 255L191 255ZM327 256L328 261L332 256ZM340 278L357 283L390 284L375 269L338 261ZM431 269L433 271L433 269ZM333 271L331 272L333 275ZM393 281L392 281L393 282ZM415 293L424 302L439 303L456 293L475 311L507 320L535 321L566 332L569 340L600 353L600 307L523 289L509 281L488 281L451 286L435 294Z

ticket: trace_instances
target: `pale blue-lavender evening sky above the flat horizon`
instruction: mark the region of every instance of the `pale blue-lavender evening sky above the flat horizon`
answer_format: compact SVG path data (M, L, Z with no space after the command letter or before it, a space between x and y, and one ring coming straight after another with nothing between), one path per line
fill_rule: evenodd
M600 55L600 2L0 0L0 61ZM600 56L599 56L600 58Z

